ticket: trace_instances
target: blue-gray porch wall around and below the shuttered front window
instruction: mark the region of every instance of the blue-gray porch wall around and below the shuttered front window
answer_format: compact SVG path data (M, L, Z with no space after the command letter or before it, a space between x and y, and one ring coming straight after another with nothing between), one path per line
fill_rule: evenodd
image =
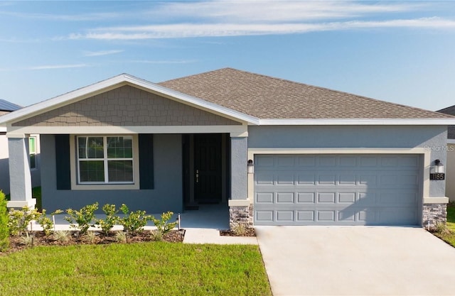
M183 211L181 135L154 135L153 190L57 190L55 136L41 135L43 208L79 209L87 204L127 204L148 213Z

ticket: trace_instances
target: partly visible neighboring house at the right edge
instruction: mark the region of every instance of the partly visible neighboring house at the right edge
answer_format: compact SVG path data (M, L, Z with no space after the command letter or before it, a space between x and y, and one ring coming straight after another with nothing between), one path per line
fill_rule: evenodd
M438 110L444 114L455 115L455 105ZM447 127L447 165L446 165L446 196L455 202L455 125Z

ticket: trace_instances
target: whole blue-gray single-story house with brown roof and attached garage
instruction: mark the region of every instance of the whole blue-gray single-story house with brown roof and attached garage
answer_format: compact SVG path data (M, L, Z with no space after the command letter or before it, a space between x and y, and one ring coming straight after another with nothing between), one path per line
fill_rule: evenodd
M9 207L126 203L156 213L227 203L231 226L434 225L446 219L452 116L231 68L158 84L122 74L0 119Z

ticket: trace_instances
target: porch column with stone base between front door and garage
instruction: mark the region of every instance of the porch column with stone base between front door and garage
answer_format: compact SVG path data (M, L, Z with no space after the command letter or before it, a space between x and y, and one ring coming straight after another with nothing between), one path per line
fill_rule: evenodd
M247 186L247 137L232 136L230 138L231 153L231 192L229 200L230 228L238 225L252 226L252 204L248 199Z

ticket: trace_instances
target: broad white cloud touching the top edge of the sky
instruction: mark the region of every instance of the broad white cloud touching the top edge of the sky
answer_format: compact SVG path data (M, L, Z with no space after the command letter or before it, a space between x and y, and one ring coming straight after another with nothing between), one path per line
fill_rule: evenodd
M370 1L201 1L171 2L150 11L168 17L203 18L240 23L309 21L358 17L373 13L395 13L424 9L428 4L419 2Z

